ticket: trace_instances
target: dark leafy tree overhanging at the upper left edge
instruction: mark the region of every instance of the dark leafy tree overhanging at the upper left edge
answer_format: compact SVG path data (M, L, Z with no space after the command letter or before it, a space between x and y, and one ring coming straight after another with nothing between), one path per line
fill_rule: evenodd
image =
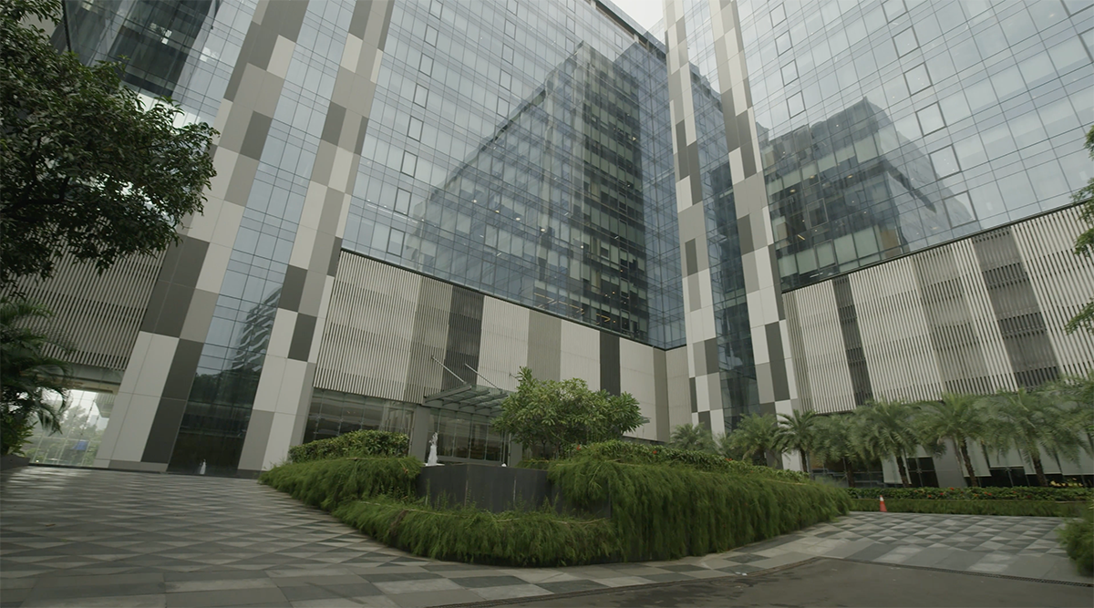
M103 271L165 249L216 175L209 125L179 126L170 100L146 103L117 65L84 66L25 23L60 8L0 0L0 288L65 254Z

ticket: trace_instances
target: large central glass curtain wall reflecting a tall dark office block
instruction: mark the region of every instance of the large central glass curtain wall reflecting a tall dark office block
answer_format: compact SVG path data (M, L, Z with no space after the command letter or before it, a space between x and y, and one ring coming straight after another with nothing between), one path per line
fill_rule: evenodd
M683 343L664 82L585 1L396 2L344 246Z

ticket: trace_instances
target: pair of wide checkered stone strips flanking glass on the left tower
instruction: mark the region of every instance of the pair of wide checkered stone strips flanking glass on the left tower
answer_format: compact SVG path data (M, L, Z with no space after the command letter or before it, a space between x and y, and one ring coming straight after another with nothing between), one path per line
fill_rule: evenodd
M205 213L166 255L95 465L162 471L247 204L307 1L260 0L214 126L218 176ZM392 0L358 2L292 246L238 468L257 471L300 441L349 192L375 90Z

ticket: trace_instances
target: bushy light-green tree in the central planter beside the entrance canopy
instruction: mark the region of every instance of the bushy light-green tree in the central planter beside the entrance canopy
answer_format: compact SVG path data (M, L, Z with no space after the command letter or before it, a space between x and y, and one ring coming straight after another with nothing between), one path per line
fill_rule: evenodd
M519 381L491 424L526 447L538 447L544 456L566 456L574 445L618 440L647 422L629 393L593 391L580 378L540 381L527 367L521 367Z

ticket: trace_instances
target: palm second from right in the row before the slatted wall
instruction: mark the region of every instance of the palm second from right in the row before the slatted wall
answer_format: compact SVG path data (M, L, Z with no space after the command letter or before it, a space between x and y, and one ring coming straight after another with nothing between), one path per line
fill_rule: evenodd
M968 472L969 484L980 486L973 468L973 458L968 454L967 440L984 441L987 429L982 398L976 395L955 395L945 393L940 401L923 401L919 404L920 411L916 417L922 443L938 446L945 453L946 442L953 442L954 457L957 458L957 470L964 466Z

